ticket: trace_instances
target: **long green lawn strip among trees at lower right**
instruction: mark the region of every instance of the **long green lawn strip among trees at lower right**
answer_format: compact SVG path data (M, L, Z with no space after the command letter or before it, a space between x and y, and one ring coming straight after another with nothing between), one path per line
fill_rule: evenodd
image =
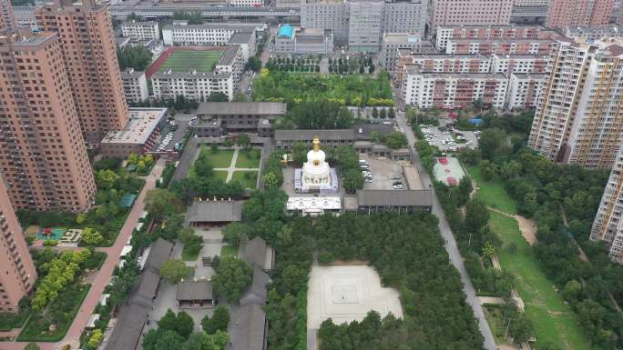
M563 303L554 285L543 273L531 245L519 231L516 220L490 212L490 226L500 237L503 246L514 243L516 253L500 249L502 269L516 276L516 289L526 304L526 315L536 333L536 345L552 343L568 350L588 350L586 335L577 323L571 308Z

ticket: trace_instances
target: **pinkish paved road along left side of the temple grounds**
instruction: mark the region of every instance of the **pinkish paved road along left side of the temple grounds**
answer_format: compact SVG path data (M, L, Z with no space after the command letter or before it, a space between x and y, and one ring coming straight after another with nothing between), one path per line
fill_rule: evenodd
M78 339L82 334L82 331L87 325L88 318L91 314L93 314L97 303L99 303L99 297L104 292L104 288L110 282L110 278L112 277L113 271L115 270L115 266L117 265L123 246L126 245L129 236L132 235L134 227L138 224L138 219L142 215L145 208L145 195L147 194L148 190L156 187L156 180L162 174L164 165L165 160L163 158L160 158L154 168L151 170L151 174L148 175L143 190L141 191L140 195L138 195L138 199L134 206L132 206L132 210L130 211L128 218L126 219L126 223L121 228L121 232L119 232L119 235L117 235L115 245L107 248L97 249L98 251L104 251L107 253L106 261L97 273L95 281L91 285L91 289L89 289L88 291L87 298L85 298L85 301L80 306L80 310L74 318L74 322L69 327L65 338L57 344L39 343L38 345L41 350L60 349L61 346L65 344L77 344ZM23 350L25 346L26 343L0 342L0 349L2 350ZM77 347L72 346L72 349L76 348Z

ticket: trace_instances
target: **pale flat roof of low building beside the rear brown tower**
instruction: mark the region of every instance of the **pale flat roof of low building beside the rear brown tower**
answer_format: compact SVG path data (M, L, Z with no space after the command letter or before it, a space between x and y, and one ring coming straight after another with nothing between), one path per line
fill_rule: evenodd
M129 108L126 127L108 132L102 144L145 144L165 115L167 108Z

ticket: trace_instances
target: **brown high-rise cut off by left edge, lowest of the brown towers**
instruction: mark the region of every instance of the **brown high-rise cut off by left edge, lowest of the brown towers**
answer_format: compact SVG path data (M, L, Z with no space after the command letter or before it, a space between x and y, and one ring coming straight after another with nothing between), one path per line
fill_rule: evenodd
M19 311L18 303L35 285L36 269L0 174L0 313Z

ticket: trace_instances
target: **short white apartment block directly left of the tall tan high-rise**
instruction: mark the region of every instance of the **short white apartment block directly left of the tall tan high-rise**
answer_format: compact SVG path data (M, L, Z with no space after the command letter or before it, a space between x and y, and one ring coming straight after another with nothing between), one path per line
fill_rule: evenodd
M548 75L511 73L506 95L506 109L534 108L543 95Z

